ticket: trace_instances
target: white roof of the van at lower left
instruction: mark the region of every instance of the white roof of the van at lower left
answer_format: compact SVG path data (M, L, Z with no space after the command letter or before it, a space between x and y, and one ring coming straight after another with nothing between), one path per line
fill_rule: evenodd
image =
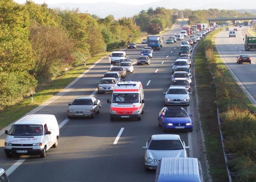
M34 114L34 115L26 115L21 118L15 125L42 125L45 120L51 118L53 115L45 115L45 114Z

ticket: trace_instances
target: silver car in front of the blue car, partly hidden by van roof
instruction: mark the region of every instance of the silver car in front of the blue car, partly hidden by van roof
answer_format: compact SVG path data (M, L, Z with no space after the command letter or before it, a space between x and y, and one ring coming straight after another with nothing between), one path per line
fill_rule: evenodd
M156 169L161 158L186 158L186 149L183 139L178 134L152 135L146 142L145 169Z

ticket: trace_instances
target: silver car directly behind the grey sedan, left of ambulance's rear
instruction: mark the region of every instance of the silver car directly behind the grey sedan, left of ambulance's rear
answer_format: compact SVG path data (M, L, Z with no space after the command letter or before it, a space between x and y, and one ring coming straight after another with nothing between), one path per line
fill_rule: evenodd
M98 94L112 92L118 81L115 78L102 78L98 83Z

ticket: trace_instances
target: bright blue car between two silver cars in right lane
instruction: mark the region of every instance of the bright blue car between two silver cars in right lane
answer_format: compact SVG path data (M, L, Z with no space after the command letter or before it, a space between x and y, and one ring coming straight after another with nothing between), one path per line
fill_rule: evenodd
M159 112L158 124L163 131L186 130L193 131L193 122L183 107L164 107Z

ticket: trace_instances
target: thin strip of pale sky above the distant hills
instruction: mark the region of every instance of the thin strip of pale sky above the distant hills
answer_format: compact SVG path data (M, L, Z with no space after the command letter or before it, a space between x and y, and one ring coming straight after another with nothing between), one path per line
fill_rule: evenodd
M26 0L14 0L17 3L25 3ZM98 2L112 2L112 3L125 3L125 4L133 4L140 5L146 3L157 2L159 0L128 0L128 1L120 1L120 0L33 0L35 3L42 4L57 4L63 2L72 2L72 3L98 3Z

